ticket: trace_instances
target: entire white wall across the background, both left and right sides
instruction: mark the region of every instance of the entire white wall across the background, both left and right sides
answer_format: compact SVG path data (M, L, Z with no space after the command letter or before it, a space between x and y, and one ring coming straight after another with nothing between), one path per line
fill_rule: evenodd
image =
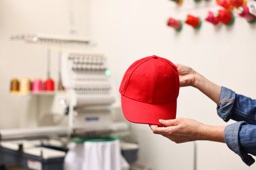
M165 25L169 16L183 19L188 12L203 18L208 9L218 9L214 1L195 5L194 1L186 0L179 8L167 0L74 0L74 3L77 35L89 35L97 43L96 50L109 60L117 87L133 61L155 54L190 65L217 84L256 98L253 50L256 24L248 24L236 16L231 27L214 27L203 22L198 31L184 25L177 33ZM16 33L68 34L68 5L68 1L0 1L1 128L19 126L22 99L9 94L11 78L46 77L45 46L10 41L9 37ZM52 65L57 65L56 53ZM53 78L57 78L57 68L52 69ZM181 88L177 116L226 125L217 116L216 105L193 88ZM171 143L152 134L147 125L133 124L132 128L140 144L139 163L156 170L193 169L192 143ZM247 167L226 144L198 142L200 170L255 169L255 166Z

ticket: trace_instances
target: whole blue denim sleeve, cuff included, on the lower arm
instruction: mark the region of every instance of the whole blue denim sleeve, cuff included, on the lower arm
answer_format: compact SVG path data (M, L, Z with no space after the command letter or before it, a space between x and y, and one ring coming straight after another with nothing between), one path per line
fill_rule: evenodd
M254 125L248 125L246 122L236 122L226 126L224 129L224 141L230 150L234 151L248 166L255 160L248 153L256 153L256 139ZM247 131L247 132L246 132ZM248 134L249 133L249 134Z

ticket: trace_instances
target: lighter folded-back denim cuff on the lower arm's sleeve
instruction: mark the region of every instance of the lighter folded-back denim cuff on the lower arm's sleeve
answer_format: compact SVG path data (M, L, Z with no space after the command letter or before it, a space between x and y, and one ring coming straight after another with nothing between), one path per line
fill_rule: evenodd
M224 129L224 141L230 150L234 151L236 154L240 156L240 158L246 163L248 166L252 165L255 160L249 154L243 152L240 148L239 143L239 131L242 125L247 124L246 122L236 122L234 124L230 124Z

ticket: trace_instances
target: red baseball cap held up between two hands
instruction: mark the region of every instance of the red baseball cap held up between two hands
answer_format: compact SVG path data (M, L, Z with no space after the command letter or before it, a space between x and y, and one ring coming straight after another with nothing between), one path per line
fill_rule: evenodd
M127 120L162 126L158 120L176 118L179 73L168 59L150 56L135 61L125 72L119 92Z

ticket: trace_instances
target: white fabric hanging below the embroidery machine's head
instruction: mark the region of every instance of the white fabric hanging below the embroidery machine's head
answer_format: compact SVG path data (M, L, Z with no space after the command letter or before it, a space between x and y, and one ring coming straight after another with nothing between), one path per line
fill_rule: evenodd
M65 170L128 170L115 141L73 143L64 160Z

